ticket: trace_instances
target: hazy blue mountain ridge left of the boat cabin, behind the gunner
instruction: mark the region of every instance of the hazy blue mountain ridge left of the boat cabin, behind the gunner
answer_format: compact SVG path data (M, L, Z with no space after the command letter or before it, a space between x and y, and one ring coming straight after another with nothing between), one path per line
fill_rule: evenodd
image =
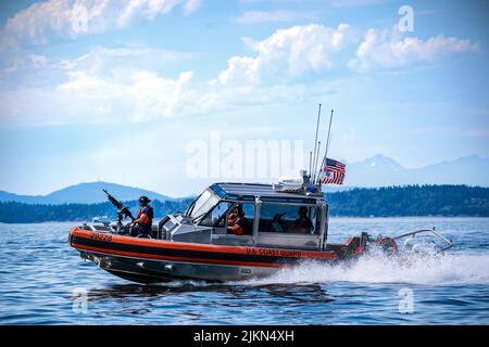
M26 204L95 204L106 202L105 189L120 201L134 201L141 195L150 200L168 201L168 196L148 190L108 182L90 182L71 185L48 195L17 195L0 191L0 202L18 202Z

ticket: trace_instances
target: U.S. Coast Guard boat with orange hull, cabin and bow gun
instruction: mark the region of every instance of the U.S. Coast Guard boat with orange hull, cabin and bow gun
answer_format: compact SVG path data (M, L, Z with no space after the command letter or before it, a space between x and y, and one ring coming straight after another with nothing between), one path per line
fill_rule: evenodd
M444 242L441 250L451 247L451 241L431 229L375 240L363 232L343 243L328 243L329 205L321 187L311 190L310 177L301 174L299 182L212 184L184 213L165 216L142 237L130 236L121 223L128 209L117 202L117 223L75 227L70 231L70 245L103 270L139 283L262 278L301 261L356 258L372 247L396 254L400 239L408 239L408 247L421 233ZM246 220L239 235L228 229L236 207ZM297 222L304 217L310 221L305 226Z

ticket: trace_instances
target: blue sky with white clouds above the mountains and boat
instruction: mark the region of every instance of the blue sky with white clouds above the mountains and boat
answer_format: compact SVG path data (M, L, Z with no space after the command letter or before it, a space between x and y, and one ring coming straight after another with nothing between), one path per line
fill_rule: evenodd
M414 11L412 31L399 29L402 5ZM80 9L86 22L76 22ZM45 194L101 179L196 193L211 179L185 174L188 143L218 131L303 140L309 151L318 103L324 119L335 108L333 157L381 153L406 167L487 157L488 10L487 1L3 1L0 190Z

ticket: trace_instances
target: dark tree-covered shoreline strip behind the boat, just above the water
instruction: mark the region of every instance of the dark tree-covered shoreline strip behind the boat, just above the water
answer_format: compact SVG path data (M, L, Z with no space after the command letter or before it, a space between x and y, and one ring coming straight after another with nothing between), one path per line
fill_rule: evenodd
M489 217L489 188L466 185L409 185L352 189L328 193L331 216L472 216ZM126 203L136 215L137 202ZM154 201L155 218L185 210L190 200ZM0 203L0 222L90 221L96 216L114 219L110 203L41 205Z

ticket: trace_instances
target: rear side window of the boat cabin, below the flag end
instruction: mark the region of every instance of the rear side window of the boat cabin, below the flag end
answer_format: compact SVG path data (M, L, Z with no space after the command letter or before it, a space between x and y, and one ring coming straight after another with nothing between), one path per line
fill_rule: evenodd
M321 208L301 205L263 203L260 209L260 232L319 234Z

